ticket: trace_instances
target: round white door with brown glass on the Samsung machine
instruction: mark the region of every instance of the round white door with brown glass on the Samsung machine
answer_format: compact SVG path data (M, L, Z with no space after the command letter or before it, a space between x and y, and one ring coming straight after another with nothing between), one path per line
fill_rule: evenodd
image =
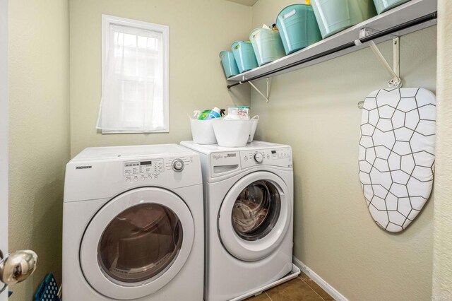
M82 272L106 297L145 297L179 273L193 241L194 220L179 196L155 187L133 189L90 221L81 242Z

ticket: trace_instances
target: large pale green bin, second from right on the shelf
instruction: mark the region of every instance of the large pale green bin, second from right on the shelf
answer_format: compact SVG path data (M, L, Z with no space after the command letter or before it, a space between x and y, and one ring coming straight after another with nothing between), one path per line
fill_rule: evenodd
M376 16L372 0L312 0L323 38Z

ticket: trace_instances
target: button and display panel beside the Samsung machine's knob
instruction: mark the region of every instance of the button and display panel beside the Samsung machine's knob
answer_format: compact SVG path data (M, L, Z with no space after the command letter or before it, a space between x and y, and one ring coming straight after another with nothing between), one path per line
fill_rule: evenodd
M164 172L163 159L124 162L126 182L138 182L145 179L158 179Z

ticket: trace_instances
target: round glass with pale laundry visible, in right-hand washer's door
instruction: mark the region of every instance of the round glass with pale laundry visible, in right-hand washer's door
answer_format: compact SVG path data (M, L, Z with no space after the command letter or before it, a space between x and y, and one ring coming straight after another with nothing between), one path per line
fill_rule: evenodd
M249 184L232 208L232 226L244 240L265 237L278 221L281 199L272 182L259 180Z

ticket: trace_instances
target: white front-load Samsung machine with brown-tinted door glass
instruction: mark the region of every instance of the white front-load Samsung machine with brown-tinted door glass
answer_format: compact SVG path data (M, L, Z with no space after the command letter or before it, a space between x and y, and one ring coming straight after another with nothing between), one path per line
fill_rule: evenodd
M198 155L176 144L86 148L66 165L63 298L203 298Z

